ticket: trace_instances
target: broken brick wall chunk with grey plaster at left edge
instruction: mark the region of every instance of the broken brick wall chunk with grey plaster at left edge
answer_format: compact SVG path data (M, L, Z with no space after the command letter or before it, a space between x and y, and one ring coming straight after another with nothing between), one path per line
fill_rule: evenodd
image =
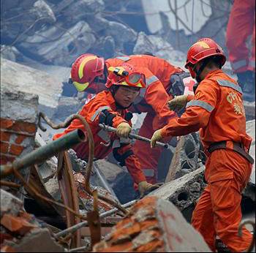
M29 154L33 150L37 131L38 97L18 91L15 87L1 75L1 165ZM22 175L26 180L29 178L29 167L22 171ZM20 184L12 175L8 181ZM15 194L23 199L21 188L9 190L16 191Z

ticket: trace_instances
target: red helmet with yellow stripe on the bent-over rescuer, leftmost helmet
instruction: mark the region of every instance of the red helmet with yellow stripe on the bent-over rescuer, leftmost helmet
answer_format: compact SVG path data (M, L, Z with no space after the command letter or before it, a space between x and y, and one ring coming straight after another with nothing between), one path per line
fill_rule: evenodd
M78 91L84 91L94 78L104 72L104 58L91 53L79 56L71 68L71 79Z

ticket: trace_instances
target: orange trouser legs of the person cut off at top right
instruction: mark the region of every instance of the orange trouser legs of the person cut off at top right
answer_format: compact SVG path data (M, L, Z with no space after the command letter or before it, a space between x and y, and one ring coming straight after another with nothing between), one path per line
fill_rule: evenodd
M252 50L246 40L252 35ZM227 49L234 72L255 71L255 0L235 0L227 24Z

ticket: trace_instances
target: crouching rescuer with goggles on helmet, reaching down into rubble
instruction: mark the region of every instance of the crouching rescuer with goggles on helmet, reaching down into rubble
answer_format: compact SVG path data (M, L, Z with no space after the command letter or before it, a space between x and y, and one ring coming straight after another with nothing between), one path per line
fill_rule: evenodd
M91 132L94 136L94 157L96 159L104 159L113 150L115 158L121 165L127 166L132 179L138 184L140 195L158 187L146 182L140 162L133 154L132 146L129 143L129 139L127 139L132 129L131 113L128 112L127 108L132 104L135 97L140 94L140 88L145 88L145 86L145 76L140 72L134 72L129 69L128 76L113 74L108 80L110 90L97 94L79 112L80 116L83 116L91 127ZM99 127L99 124L115 127L117 129L116 133L105 132ZM86 132L83 124L78 119L75 119L63 133L54 135L53 140L72 132L74 129L82 129ZM76 151L78 158L84 160L89 158L88 142L80 143L73 149Z

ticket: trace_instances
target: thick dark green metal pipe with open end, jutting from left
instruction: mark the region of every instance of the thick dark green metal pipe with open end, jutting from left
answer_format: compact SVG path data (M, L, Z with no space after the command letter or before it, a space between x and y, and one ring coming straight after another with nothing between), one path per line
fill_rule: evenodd
M1 165L0 177L6 178L7 175L13 173L13 170L21 170L24 167L29 167L39 162L43 162L61 151L72 148L83 140L85 140L85 135L82 130L76 129L73 132L69 132L58 140L53 140L51 143L37 148L35 151L26 154L22 158L15 159L15 161L12 162L12 165Z

